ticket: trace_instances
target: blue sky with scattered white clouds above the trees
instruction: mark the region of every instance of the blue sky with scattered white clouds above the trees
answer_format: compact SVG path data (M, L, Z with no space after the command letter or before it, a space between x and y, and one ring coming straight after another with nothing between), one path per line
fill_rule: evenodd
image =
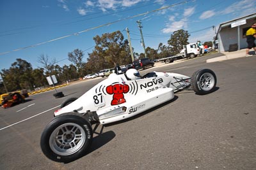
M167 45L170 35L179 29L191 34L190 43L212 41L213 25L218 30L222 22L255 10L255 0L1 0L0 71L9 69L18 58L33 68L42 67L38 63L42 54L60 61L60 66L69 65L68 52L76 48L84 51L86 62L95 46L93 37L122 31L127 39L126 27L134 52L141 53L138 20L146 47Z

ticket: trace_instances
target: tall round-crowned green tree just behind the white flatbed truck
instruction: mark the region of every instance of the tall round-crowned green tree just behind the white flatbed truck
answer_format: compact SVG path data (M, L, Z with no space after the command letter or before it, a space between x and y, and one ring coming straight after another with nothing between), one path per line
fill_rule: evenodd
M168 45L170 46L170 50L172 50L172 53L179 53L180 50L182 50L183 48L182 45L189 44L189 36L190 34L188 33L188 31L184 31L183 29L173 32L170 39L168 40Z

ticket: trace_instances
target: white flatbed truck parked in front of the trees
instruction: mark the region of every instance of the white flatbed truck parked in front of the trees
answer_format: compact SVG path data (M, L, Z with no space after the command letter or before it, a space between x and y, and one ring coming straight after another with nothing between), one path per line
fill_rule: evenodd
M159 61L170 63L173 62L174 60L179 60L179 59L193 59L197 55L202 55L204 53L204 45L202 45L200 42L197 43L190 43L188 45L183 45L183 49L180 50L180 53L177 55L173 55L170 57L166 57L163 59L159 59Z

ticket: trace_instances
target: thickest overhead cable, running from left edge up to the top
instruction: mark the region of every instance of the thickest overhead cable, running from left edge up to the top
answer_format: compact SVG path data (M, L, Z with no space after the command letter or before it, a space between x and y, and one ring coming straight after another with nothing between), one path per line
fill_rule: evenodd
M51 39L51 40L49 40L49 41L44 41L44 42L42 42L42 43L37 43L37 44L35 44L35 45L29 45L29 46L25 46L25 47L22 47L22 48L17 48L17 49L15 49L15 50L11 50L11 51L9 51L9 52L2 52L2 53L0 53L0 55L6 54L6 53L10 53L10 52L16 52L16 51L19 51L19 50L24 50L24 49L26 49L26 48L32 48L32 47L35 47L35 46L38 46L38 45L43 45L43 44L45 44L45 43L50 43L50 42L52 42L52 41L57 41L57 40L59 40L59 39L68 38L68 37L70 37L70 36L77 36L77 35L79 35L79 34L81 34L81 33L83 33L83 32L88 32L88 31L91 31L91 30L93 30L93 29L98 29L98 28L100 28L100 27L112 25L112 24L115 24L115 23L117 23L117 22L121 22L121 21L124 21L124 20L129 20L129 19L131 19L131 18L140 17L140 16L142 16L142 15L147 15L148 13L154 13L154 12L156 12L156 11L165 10L166 8L170 8L170 7L173 7L173 6L177 6L177 5L179 5L179 4L188 3L189 1L193 1L193 0L182 1L181 3L176 3L176 4L169 5L169 6L164 6L164 7L162 7L162 8L157 8L156 10L147 11L147 12L144 12L144 13L140 13L140 14L138 14L138 15L133 15L133 16L131 16L131 17L127 17L127 18L122 18L122 19L119 19L119 20L115 20L115 21L109 22L109 23L107 23L107 24L102 24L102 25L98 25L98 26L96 26L96 27L91 27L91 28L89 28L89 29L85 29L85 30L83 30L83 31L75 32L75 33L69 34L69 35L67 35L67 36L62 36L62 37L59 37L59 38Z

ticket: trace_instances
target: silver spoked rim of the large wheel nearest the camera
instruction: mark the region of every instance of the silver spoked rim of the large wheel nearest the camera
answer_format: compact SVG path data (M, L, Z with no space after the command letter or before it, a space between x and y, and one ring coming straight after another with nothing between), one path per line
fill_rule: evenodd
M85 140L86 133L80 125L67 123L52 132L49 145L58 155L72 155L82 148Z

